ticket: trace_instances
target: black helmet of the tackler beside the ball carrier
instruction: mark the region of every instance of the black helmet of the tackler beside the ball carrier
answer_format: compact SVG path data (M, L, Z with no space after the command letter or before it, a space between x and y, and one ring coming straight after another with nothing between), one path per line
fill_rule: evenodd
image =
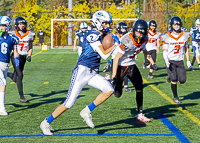
M134 24L133 24L133 38L135 41L138 41L138 39L135 36L135 31L143 34L142 38L140 38L139 43L143 42L145 40L145 37L147 35L148 31L148 24L145 20L143 19L138 19Z

